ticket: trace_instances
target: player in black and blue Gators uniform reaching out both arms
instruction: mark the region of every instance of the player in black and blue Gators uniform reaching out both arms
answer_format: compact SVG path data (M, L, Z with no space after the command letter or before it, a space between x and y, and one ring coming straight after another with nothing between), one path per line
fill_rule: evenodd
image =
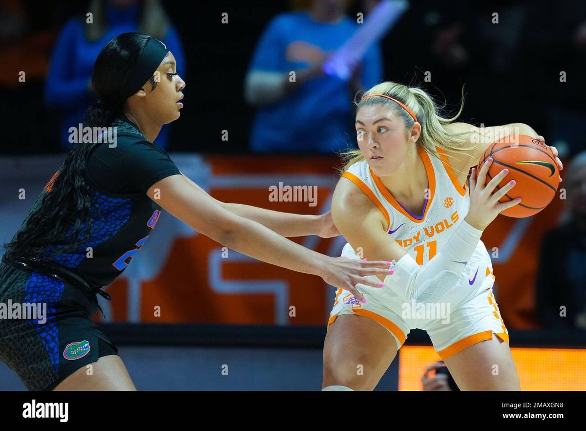
M321 276L360 300L356 284L376 287L367 276L389 274L388 262L324 256L285 239L339 235L329 213L223 203L186 178L152 144L183 107L176 67L161 41L139 33L118 35L101 50L92 76L99 99L83 126L103 134L74 145L5 244L0 303L46 304L43 318L0 314L0 360L29 390L135 390L91 316L97 294L110 299L100 288L136 258L162 209L230 249Z

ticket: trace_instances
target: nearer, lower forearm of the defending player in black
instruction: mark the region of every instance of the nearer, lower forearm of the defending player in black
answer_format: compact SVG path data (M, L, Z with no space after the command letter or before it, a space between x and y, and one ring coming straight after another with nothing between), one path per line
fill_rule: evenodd
M237 217L225 229L222 245L263 262L320 275L328 256L306 249L254 220Z

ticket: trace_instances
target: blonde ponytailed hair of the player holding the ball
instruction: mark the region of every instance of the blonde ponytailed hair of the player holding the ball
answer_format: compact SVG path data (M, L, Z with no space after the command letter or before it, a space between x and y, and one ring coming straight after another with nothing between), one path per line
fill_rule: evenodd
M441 109L434 99L427 94L424 90L418 87L408 87L398 82L383 82L372 87L362 94L359 101L354 101L356 104L356 111L364 106L373 106L377 104L384 104L389 106L398 117L403 118L405 126L410 128L415 120L411 115L393 100L386 99L386 97L369 97L362 100L363 97L369 96L370 94L384 94L385 96L393 97L406 104L411 111L417 117L418 122L421 124L421 134L415 145L423 147L425 150L430 152L434 157L440 158L440 154L435 149L437 145L444 150L458 150L458 151L470 151L474 150L478 144L473 144L472 147L465 147L464 144L471 142L468 132L452 133L445 130L445 125L454 123L458 119L462 110L464 109L464 87L462 87L462 102L460 104L460 110L452 118L442 117ZM452 157L448 152L445 153L447 157ZM364 160L362 151L360 150L349 150L340 153L340 157L343 159L343 168L340 169L340 173L345 172L350 166L356 162ZM453 168L455 171L459 169Z

